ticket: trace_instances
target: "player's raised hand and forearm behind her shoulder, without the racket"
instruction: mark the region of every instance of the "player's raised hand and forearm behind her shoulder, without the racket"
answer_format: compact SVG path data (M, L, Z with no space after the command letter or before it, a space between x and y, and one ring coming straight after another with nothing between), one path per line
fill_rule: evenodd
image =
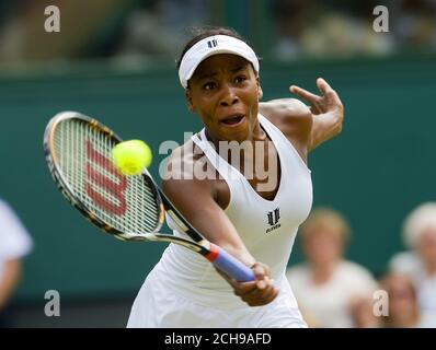
M337 93L322 78L317 79L317 85L321 95L312 94L295 85L289 88L291 93L310 104L312 128L308 144L309 152L337 136L342 131L342 124L344 121L344 106Z

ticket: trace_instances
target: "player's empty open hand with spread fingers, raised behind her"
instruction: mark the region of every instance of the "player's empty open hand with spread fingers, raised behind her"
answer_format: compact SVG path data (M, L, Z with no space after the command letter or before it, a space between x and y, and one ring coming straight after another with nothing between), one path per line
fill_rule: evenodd
M320 90L321 95L312 94L311 92L296 85L289 86L289 91L308 102L313 115L335 113L343 117L344 106L342 105L337 93L322 78L317 79L317 86Z

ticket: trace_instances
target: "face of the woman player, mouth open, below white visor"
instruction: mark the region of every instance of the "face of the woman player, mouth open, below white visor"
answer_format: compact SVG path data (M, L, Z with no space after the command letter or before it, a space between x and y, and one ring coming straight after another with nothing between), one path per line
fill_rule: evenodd
M251 140L257 122L262 90L244 58L220 54L205 59L186 90L192 112L218 140Z

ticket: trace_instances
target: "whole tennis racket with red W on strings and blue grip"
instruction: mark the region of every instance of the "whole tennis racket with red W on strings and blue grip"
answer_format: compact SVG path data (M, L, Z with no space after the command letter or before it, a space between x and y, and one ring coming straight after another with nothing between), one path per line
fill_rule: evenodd
M237 281L254 280L253 271L204 238L174 208L147 168L125 176L111 161L122 142L111 129L77 112L62 112L48 122L44 150L51 176L67 200L104 232L124 241L169 242L202 254ZM159 233L164 213L191 240Z

